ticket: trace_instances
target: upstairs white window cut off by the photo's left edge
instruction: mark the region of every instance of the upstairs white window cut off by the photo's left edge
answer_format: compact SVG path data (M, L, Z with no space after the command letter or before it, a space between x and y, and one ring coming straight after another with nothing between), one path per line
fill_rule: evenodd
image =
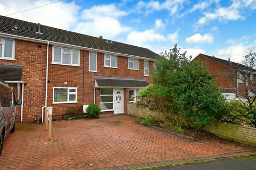
M0 59L14 60L14 40L0 38Z

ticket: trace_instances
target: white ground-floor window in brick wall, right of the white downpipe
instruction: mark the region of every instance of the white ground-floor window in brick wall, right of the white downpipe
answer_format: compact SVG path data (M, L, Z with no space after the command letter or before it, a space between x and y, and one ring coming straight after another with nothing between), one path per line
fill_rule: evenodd
M77 103L76 87L54 87L53 104Z

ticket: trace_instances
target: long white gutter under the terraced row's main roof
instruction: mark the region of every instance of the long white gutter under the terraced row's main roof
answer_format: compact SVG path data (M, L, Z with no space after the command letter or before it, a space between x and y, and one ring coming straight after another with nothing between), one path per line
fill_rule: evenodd
M82 47L82 46L70 45L70 44L65 44L65 43L58 43L58 42L54 42L54 41L41 40L41 39L36 39L36 38L16 36L16 35L11 35L9 33L0 32L0 35L5 36L7 38L18 38L18 39L21 39L21 40L28 40L28 41L34 41L34 42L40 42L40 43L47 43L47 44L50 43L51 45L61 45L61 46L74 47L74 48L79 48L79 49L84 49L84 50L89 50L89 51L95 51L95 52L101 52L101 53L107 53L107 54L114 54L114 55L119 55L119 56L124 56L124 57L134 57L134 58L140 58L142 60L156 61L153 58L146 58L146 57L140 57L140 56L135 56L135 55L123 54L123 53L109 52L109 51L101 50L101 49L87 48L87 47Z

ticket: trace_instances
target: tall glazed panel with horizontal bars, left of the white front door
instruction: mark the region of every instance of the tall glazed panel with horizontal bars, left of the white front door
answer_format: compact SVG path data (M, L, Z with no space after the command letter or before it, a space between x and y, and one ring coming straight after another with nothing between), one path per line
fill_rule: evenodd
M101 111L113 111L113 89L100 89Z

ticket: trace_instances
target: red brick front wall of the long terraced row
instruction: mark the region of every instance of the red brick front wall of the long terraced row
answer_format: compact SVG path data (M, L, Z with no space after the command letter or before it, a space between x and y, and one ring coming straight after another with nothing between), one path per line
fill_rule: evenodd
M38 45L42 47L39 48ZM34 122L41 120L42 107L45 103L45 71L46 71L46 44L30 41L15 40L15 61L0 60L0 64L22 65L22 81L27 84L23 100L23 121ZM104 54L97 54L97 71L89 72L89 52L80 50L80 66L51 64L52 46L49 48L49 77L47 107L53 107L53 118L61 119L70 106L89 105L93 103L94 76L143 78L143 60L139 60L139 71L128 69L128 58L118 56L117 69L104 67ZM153 71L153 62L149 61L149 73ZM84 81L83 81L84 78ZM64 84L67 82L67 84ZM84 83L84 86L83 86ZM77 103L53 104L53 87L77 87ZM21 88L20 88L21 89ZM84 94L83 94L84 91ZM125 91L125 90L124 90ZM124 94L127 94L125 92ZM126 102L126 101L125 101ZM95 103L99 104L99 89L96 90ZM19 106L20 107L20 106ZM126 103L124 111L126 112ZM20 119L20 117L18 118Z

